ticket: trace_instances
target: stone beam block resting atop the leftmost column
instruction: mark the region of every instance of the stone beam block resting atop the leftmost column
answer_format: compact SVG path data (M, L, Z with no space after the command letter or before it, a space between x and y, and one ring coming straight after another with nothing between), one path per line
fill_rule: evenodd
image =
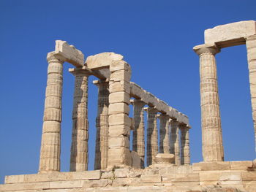
M73 45L68 45L67 42L56 40L54 55L61 61L67 61L74 66L84 65L83 53Z

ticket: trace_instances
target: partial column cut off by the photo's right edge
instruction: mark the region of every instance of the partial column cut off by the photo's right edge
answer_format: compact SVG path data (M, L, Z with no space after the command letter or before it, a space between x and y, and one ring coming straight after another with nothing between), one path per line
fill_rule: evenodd
M247 60L249 68L249 84L252 101L252 120L255 129L256 152L256 35L246 38Z

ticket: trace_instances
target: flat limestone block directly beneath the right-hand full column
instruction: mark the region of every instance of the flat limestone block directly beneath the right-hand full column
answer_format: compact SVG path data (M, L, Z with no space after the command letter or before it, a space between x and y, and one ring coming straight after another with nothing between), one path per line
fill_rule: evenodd
M200 162L192 165L194 171L229 170L230 161Z

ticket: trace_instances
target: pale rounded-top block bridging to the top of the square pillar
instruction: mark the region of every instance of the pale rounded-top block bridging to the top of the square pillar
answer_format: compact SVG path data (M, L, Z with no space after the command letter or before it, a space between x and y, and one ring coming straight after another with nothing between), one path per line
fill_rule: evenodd
M120 61L123 58L123 55L116 53L99 53L87 57L86 66L92 70L103 69L109 67L113 61Z

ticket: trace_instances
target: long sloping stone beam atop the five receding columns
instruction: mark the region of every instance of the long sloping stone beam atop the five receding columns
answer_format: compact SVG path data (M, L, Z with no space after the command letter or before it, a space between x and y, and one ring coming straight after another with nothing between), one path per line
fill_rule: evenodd
M170 118L178 120L180 123L189 125L189 118L187 115L178 112L178 110L170 107L167 103L165 103L165 101L162 101L152 93L143 90L143 88L141 88L135 82L130 82L130 87L130 96L134 97L135 99L142 99L142 101L148 104L149 107L155 107L157 111L170 116Z

